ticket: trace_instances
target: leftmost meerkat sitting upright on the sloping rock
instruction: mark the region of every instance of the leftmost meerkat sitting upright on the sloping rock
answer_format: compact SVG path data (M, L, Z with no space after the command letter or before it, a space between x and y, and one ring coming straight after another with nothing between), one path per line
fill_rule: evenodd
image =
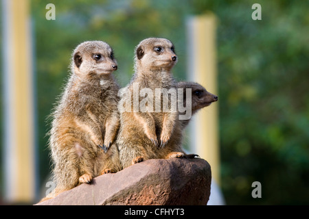
M73 51L49 132L56 194L121 169L117 147L111 146L119 129L114 70L117 61L106 42L82 42Z

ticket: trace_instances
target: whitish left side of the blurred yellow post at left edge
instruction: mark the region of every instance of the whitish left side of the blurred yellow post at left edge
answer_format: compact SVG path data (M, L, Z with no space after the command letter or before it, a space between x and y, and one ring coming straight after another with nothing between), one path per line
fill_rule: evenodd
M4 161L4 196L7 201L13 201L16 196L14 188L16 182L16 166L14 154L16 141L14 139L14 54L12 47L12 1L2 0L3 19L3 161Z

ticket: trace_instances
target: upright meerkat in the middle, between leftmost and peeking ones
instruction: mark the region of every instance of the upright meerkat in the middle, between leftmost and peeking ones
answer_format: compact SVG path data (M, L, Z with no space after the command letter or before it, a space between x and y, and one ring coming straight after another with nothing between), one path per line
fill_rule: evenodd
M152 94L156 93L157 88L176 91L177 82L171 73L176 62L177 56L170 40L147 38L137 45L135 74L121 98L121 103L130 107L120 113L121 124L116 140L123 168L145 159L184 156L179 144L182 136L178 112L172 111L170 102L168 110L163 111L163 94L159 94L161 101L155 102L155 98L148 101L147 106L155 106L152 110L156 109L156 112L150 112L149 109L142 112L134 106L136 90L141 92L148 89ZM137 95L138 101L141 102L141 95ZM161 108L161 111L157 112L157 108Z

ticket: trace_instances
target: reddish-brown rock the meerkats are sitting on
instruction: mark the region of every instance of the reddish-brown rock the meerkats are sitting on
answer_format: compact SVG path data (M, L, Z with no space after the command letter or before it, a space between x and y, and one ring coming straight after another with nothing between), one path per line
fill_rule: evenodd
M207 205L210 184L204 159L149 159L38 205Z

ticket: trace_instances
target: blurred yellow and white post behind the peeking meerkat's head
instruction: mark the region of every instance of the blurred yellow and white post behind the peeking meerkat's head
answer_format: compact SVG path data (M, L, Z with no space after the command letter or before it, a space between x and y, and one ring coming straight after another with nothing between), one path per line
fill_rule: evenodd
M200 83L207 91L218 95L216 16L206 14L187 19L187 51L187 75L190 81ZM212 177L220 183L218 102L194 115L190 130L192 152L209 162Z

